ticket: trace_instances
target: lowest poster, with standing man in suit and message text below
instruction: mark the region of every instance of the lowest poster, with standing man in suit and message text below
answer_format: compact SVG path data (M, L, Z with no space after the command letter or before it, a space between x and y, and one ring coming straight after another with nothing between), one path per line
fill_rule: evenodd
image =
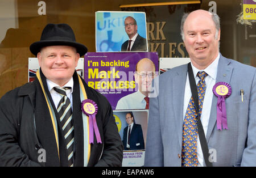
M147 139L148 110L113 111L113 115L124 145L122 166L143 166Z

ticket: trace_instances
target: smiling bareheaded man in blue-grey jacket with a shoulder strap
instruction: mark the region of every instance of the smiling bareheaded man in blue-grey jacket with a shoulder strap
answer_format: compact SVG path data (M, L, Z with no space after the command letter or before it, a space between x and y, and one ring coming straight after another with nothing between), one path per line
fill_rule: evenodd
M181 36L191 58L195 83L201 81L201 88L206 88L202 101L203 92L197 87L200 120L209 148L206 159L213 166L256 166L255 67L220 54L220 21L216 14L204 10L184 14ZM206 73L206 77L201 79L197 75L199 71ZM229 90L225 98L226 124L223 128L217 122L218 98L213 94L218 82L225 83ZM195 138L191 137L195 139L191 146L195 145L187 152L185 149L187 140L184 138L188 132L194 132L193 127L185 126L191 116L187 111L193 107L193 102L190 105L188 65L168 70L156 78L155 83L159 83L159 87L155 88L157 96L150 98L144 166L187 166L187 163L205 166L197 125ZM221 109L224 111L223 103Z

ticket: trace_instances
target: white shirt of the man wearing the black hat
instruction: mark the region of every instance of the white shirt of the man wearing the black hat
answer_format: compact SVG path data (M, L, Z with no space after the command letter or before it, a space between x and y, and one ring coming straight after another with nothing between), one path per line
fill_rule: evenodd
M52 100L53 100L53 103L55 105L55 107L57 108L59 102L60 102L60 99L62 98L62 96L60 94L58 94L53 88L54 87L60 87L58 84L52 82L51 80L49 79L46 79L46 83L47 83L47 86L48 86L48 90L52 96ZM72 92L73 92L73 78L71 78L68 83L66 83L63 87L71 87L71 90L66 90L66 94L71 102L71 108L73 109L73 99L72 99Z

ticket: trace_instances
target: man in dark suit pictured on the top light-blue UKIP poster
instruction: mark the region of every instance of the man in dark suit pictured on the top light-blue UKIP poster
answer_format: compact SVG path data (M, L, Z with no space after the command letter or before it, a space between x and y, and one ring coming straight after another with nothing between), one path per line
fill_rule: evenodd
M125 31L129 40L122 44L122 52L147 52L147 40L138 34L137 22L131 16L125 19Z

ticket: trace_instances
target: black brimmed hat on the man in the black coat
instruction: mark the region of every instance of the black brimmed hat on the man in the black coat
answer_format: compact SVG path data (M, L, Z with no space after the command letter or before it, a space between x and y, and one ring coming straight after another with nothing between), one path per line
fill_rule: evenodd
M73 46L80 56L84 56L87 52L86 46L76 42L75 33L65 23L47 24L43 29L40 41L36 41L30 45L30 51L36 56L41 48L55 45Z

